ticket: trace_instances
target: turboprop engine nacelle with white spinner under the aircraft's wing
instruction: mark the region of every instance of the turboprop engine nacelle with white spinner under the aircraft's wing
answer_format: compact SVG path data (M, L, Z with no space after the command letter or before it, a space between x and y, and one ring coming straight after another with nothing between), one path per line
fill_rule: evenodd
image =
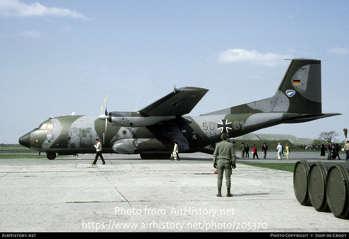
M142 127L154 125L158 122L169 121L176 118L170 116L142 116L137 112L109 112L107 115L100 115L101 120L108 120L114 126L120 127Z

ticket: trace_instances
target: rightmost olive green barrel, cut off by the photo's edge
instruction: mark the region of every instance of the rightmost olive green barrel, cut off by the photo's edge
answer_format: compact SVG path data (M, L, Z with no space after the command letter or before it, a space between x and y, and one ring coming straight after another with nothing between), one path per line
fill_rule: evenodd
M336 163L327 173L326 198L328 207L338 218L349 216L349 165Z

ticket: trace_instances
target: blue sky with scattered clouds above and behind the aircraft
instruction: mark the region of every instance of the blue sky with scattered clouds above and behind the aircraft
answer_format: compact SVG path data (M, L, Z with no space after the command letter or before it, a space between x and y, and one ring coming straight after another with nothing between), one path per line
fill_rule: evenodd
M257 132L349 128L349 1L0 0L0 21L0 143L100 115L105 94L137 111L173 85L209 89L191 116L269 98L300 57L322 61L322 112L343 115Z

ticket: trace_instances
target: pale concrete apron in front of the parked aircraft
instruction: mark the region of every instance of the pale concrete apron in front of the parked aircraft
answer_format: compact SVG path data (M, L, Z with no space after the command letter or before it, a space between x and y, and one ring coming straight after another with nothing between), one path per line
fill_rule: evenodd
M173 162L173 161L171 161ZM89 162L90 163L90 162ZM298 203L291 172L213 163L0 165L3 232L348 232Z

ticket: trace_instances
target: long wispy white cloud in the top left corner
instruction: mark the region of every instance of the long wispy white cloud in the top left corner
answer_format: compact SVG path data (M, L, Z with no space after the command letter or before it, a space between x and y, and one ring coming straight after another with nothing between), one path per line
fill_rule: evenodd
M75 10L45 7L38 2L29 5L18 0L0 0L0 16L59 16L87 19L82 13L77 13Z

